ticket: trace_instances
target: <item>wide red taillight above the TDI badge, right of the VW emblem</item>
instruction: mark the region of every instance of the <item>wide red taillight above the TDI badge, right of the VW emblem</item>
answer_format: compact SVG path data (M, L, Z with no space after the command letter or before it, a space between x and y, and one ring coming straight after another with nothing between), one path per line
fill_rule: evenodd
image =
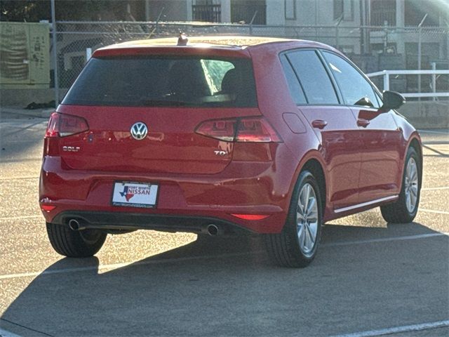
M279 143L281 138L263 117L203 121L196 133L226 142Z

